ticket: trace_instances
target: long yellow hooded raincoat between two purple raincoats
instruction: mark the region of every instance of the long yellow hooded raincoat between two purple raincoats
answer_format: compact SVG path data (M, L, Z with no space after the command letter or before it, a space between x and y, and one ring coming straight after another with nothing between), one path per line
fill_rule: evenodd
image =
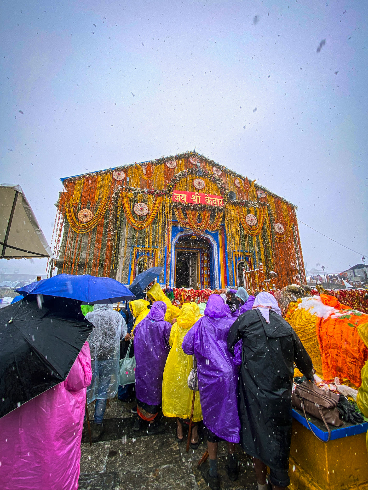
M190 417L193 392L189 390L187 380L193 368L193 360L192 356L184 354L182 343L185 334L196 321L193 306L184 303L180 316L171 328L169 339L171 349L162 380L162 412L165 417ZM199 392L196 392L193 422L199 422L202 418Z

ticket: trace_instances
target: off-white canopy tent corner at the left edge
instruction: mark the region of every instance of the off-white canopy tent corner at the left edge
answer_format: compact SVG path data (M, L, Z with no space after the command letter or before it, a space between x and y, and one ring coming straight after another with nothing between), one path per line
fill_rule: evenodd
M22 188L0 184L0 259L43 257L55 258Z

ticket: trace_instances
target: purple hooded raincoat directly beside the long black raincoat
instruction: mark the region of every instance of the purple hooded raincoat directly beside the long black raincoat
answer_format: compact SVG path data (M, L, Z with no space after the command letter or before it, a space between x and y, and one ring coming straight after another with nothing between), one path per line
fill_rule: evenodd
M203 422L217 437L239 442L237 367L227 347L234 319L218 294L211 294L200 318L185 335L185 354L197 358L198 385Z

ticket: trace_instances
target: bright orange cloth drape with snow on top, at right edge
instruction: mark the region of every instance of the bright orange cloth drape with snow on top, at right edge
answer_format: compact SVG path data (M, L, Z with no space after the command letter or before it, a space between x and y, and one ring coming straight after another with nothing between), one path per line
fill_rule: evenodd
M361 339L357 326L368 321L365 313L351 310L334 296L320 295L326 306L335 308L327 318L317 318L315 333L322 359L324 379L347 379L359 388L362 384L360 371L368 360L368 349Z

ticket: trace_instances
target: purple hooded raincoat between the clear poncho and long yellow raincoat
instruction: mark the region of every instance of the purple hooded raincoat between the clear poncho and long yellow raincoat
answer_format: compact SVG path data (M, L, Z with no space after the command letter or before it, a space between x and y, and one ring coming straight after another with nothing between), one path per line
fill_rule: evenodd
M222 301L222 300L221 300ZM134 330L135 395L147 405L160 405L162 376L169 353L171 323L164 321L166 304L155 301Z

